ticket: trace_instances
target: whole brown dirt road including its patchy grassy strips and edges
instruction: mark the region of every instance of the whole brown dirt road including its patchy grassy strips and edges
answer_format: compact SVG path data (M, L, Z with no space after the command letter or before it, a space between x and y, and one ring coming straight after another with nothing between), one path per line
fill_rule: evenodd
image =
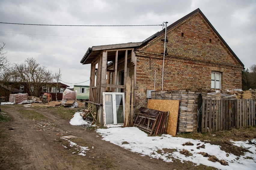
M215 169L178 160L166 163L106 142L95 129L69 124L75 109L18 105L1 109L13 120L0 123L0 169ZM76 148L60 138L67 135L77 136L70 140L90 149L86 156L74 153Z

